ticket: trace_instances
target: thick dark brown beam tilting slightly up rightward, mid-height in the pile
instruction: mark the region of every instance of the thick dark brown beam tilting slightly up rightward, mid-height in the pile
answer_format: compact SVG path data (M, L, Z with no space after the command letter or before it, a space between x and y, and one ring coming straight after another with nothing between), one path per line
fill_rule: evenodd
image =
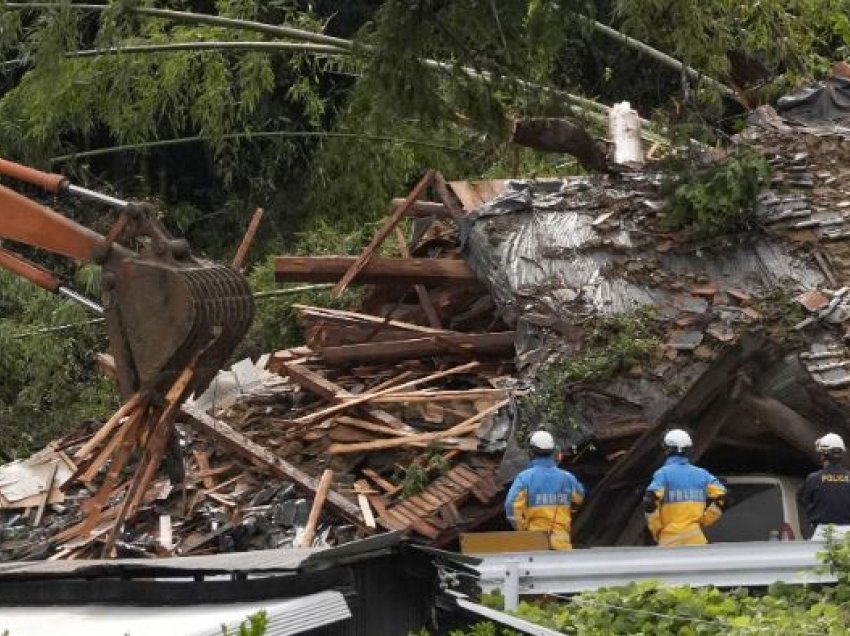
M514 331L482 334L457 333L445 336L325 347L318 353L325 362L335 366L413 360L455 351L463 352L473 358L479 356L512 356L515 340L516 332Z

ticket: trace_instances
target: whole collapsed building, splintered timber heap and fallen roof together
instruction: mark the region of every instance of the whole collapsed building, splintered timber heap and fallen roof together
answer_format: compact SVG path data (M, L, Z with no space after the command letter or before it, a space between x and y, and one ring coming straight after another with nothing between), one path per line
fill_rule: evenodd
M132 516L126 471L94 496L112 466L94 430L3 467L0 554L198 555L388 530L452 546L503 527L538 425L591 487L579 546L646 540L639 500L674 424L715 470L805 474L816 437L850 435L850 130L761 109L738 141L772 182L751 231L710 239L669 229L657 166L429 173L360 256L277 259L281 282L370 291L356 311L296 306L304 346L239 362L185 405ZM376 256L393 234L399 256Z

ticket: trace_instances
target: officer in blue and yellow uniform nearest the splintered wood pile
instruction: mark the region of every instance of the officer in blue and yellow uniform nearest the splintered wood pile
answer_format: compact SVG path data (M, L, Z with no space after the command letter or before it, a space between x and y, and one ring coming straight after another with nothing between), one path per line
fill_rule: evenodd
M529 439L528 468L514 479L505 513L514 530L544 530L553 550L569 550L573 512L584 503L584 486L555 462L555 439L537 431Z

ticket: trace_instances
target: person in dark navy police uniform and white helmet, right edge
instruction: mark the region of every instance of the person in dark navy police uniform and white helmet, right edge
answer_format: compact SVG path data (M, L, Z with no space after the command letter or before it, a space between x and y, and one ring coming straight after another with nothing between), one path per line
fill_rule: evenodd
M835 433L815 440L823 469L806 477L802 494L806 518L815 529L813 541L823 541L829 525L834 526L836 538L850 531L850 470L841 465L846 450L844 440Z

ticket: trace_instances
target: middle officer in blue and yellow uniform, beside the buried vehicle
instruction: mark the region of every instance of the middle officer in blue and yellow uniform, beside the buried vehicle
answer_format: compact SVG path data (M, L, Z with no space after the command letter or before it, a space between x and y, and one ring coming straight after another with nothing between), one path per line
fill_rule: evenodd
M710 472L690 463L692 447L687 432L668 431L664 435L667 459L646 489L647 525L662 547L708 543L702 529L723 514L726 488Z

